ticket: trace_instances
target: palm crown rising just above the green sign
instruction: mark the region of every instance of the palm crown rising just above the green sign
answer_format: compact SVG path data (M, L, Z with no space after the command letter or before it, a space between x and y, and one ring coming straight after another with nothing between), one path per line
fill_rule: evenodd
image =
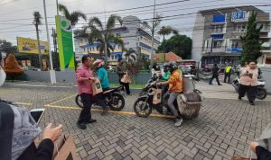
M87 21L87 16L85 13L82 13L80 11L74 11L70 13L68 8L64 4L59 4L59 9L64 14L64 16L68 20L70 20L72 26L75 26L77 22L79 22L79 18L82 18L83 20Z

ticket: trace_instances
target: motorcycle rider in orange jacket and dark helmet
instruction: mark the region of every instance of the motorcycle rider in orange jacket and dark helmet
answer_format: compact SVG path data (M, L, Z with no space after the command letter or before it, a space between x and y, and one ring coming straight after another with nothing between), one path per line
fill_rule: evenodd
M168 107L173 111L173 115L175 118L175 126L179 127L182 124L182 117L179 115L178 111L175 109L173 102L176 100L177 96L182 93L182 77L181 73L178 69L178 66L174 62L170 62L169 71L171 72L171 76L168 81L159 83L160 85L169 84L169 90L164 94L164 97L169 95L169 99L167 101Z

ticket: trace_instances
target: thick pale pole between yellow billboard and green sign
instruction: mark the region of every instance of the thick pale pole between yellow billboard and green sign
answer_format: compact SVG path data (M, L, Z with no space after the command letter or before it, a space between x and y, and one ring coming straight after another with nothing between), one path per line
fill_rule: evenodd
M47 22L47 13L46 13L45 0L43 0L43 8L44 8L45 26L46 26L46 32L47 32L47 41L48 41L48 44L49 44L48 51L49 51L50 67L51 67L51 69L50 69L51 84L56 84L56 77L55 77L55 72L53 70L52 59L51 59L51 43L50 43L50 35L49 35L49 30L48 30L48 22Z

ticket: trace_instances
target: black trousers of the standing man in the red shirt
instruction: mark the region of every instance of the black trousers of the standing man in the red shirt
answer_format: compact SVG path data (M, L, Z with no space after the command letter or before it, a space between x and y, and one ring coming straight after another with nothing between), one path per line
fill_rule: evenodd
M81 93L80 94L81 101L83 103L82 111L79 114L78 123L85 123L89 119L91 119L91 105L93 102L93 96L90 93Z

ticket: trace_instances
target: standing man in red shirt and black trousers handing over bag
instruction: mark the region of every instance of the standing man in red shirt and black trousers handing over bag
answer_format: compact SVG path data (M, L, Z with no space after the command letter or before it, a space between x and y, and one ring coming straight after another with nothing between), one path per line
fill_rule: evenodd
M93 77L92 72L89 69L90 62L91 58L89 58L88 55L84 55L82 57L82 66L79 67L76 71L78 93L83 103L83 108L79 114L79 120L77 122L79 129L87 129L86 124L94 123L97 121L91 119L90 113L91 105L94 99L92 95L92 81L96 79Z

